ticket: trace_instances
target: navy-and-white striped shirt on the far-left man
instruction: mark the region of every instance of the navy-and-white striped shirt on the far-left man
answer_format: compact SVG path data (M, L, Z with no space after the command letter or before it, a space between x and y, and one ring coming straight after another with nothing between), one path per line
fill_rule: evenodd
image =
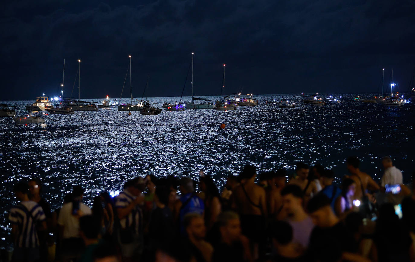
M34 201L22 201L10 209L10 223L17 225L17 247L39 247L36 225L46 219L41 206Z

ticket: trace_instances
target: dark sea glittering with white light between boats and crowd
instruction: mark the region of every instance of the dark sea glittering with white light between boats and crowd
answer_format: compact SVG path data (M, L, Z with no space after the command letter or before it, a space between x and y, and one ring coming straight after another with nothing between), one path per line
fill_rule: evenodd
M222 187L226 176L238 174L245 164L254 164L259 172L286 168L291 174L296 161L318 162L332 168L340 181L347 174L344 160L351 155L377 180L383 174L381 157L391 155L408 182L414 169L414 106L387 108L353 102L354 97L342 95L344 103L317 107L303 104L306 97L300 95L254 95L258 106L229 112L163 110L143 116L112 108L43 115L46 124L27 126L0 118L0 234L10 230L6 218L15 203L13 184L35 176L41 178L52 209L76 184L84 186L90 204L98 192L115 195L127 179L146 174L198 179L203 169ZM265 104L274 99L289 100L296 107ZM179 98L149 100L161 106ZM0 103L17 105L17 115L23 115L25 105L33 101ZM222 123L225 129L219 128Z

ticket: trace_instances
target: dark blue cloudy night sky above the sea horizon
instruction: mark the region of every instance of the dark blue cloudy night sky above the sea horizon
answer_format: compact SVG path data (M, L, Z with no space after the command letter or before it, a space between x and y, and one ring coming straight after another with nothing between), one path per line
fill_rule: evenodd
M2 2L0 100L120 96L132 55L133 96L181 94L195 52L195 95L364 93L415 66L413 0ZM126 84L127 85L127 84ZM123 97L129 96L129 83ZM77 84L73 94L77 93ZM190 95L190 81L185 91Z

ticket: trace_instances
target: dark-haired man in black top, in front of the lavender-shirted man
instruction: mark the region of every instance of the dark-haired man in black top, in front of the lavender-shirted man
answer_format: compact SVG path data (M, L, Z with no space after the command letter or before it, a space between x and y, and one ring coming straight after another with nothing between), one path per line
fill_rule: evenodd
M348 253L353 251L354 239L334 214L330 199L326 195L318 194L311 198L307 209L316 225L312 230L308 248L312 261L339 261L342 256L357 256Z

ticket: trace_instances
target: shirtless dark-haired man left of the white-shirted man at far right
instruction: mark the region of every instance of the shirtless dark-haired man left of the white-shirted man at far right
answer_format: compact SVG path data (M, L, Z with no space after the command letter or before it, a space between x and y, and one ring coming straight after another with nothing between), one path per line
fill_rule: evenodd
M360 171L360 160L357 157L348 157L346 159L346 165L347 170L350 172L350 178L354 180L356 183L356 192L354 193L354 198L356 199L362 199L363 194L365 192L362 192L362 188L364 191L366 189L369 189L371 191L377 191L379 190L379 185L376 184L376 182L366 174L365 172ZM369 197L369 199L371 199Z

